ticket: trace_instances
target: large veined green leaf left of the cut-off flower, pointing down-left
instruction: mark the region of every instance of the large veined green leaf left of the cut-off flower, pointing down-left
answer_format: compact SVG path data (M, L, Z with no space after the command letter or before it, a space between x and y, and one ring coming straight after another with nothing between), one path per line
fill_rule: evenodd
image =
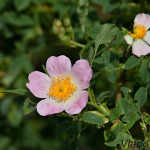
M100 32L95 39L95 51L97 51L99 45L103 43L110 43L117 35L118 28L113 24L104 24L101 26Z

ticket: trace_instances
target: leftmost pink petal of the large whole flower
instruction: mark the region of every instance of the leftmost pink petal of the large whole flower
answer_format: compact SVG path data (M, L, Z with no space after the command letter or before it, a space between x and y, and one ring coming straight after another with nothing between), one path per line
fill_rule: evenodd
M45 73L34 71L28 76L29 83L26 84L28 89L39 98L46 98L51 84L51 79Z

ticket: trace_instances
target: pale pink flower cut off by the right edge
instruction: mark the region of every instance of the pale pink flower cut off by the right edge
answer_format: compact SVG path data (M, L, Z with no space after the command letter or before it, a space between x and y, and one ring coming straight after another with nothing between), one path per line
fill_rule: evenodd
M138 57L150 53L150 15L138 14L134 19L133 33L124 36L126 42L132 45L132 53Z

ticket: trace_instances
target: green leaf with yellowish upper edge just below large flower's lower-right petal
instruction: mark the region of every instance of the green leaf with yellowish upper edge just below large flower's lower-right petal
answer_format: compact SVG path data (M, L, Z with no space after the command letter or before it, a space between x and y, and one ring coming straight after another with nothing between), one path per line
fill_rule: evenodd
M103 114L97 112L97 111L88 111L84 112L81 120L90 124L104 124L106 119Z

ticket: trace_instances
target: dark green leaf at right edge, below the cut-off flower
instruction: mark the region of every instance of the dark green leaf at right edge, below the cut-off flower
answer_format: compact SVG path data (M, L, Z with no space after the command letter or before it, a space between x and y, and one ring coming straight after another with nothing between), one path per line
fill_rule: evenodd
M148 81L149 78L149 72L148 72L148 61L144 61L141 66L140 66L140 70L139 70L139 75L141 80L146 83Z

